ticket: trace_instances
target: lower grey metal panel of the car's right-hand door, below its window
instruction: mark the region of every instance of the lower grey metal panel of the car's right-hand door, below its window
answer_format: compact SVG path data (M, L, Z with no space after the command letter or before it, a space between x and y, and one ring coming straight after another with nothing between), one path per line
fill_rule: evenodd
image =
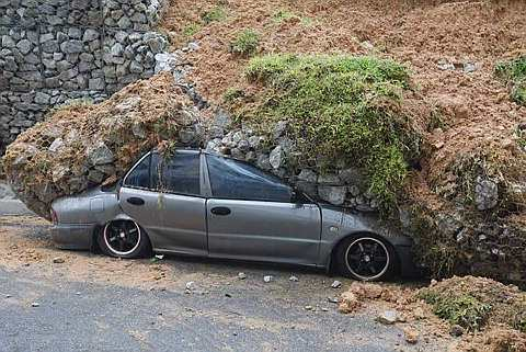
M228 215L213 214L225 207ZM316 204L208 200L210 257L316 264L320 209Z

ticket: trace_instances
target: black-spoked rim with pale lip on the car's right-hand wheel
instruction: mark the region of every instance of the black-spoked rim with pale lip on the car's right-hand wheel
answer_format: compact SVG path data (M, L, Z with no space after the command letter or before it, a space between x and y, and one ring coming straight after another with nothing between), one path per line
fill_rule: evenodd
M364 281L376 280L389 269L389 251L382 241L362 237L347 247L345 263L354 276Z

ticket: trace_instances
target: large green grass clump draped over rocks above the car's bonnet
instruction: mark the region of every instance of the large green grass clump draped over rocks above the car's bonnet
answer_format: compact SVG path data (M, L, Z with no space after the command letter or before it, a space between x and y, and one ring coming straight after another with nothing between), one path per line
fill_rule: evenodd
M288 120L305 156L363 167L381 205L395 203L420 141L400 109L410 89L403 65L375 57L272 55L253 58L245 75L266 87L262 103L244 112L254 122Z

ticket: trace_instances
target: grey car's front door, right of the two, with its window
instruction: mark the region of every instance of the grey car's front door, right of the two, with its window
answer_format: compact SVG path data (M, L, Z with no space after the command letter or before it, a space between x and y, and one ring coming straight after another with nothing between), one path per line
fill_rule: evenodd
M206 160L210 257L317 262L321 228L317 204L293 202L290 186L249 163L210 155Z

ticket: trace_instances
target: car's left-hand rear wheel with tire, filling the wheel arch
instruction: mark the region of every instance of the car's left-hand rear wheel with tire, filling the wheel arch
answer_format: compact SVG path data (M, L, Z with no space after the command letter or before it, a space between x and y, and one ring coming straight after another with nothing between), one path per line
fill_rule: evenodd
M96 238L104 254L115 258L142 258L151 253L146 231L134 220L112 220L104 225Z

